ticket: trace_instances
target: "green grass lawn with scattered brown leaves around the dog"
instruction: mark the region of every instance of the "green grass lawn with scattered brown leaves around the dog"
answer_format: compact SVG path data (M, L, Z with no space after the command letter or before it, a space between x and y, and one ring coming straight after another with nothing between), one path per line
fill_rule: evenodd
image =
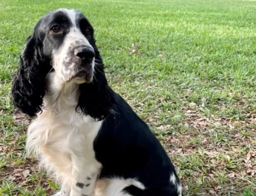
M35 23L58 7L95 27L110 86L152 127L184 195L256 195L256 1L0 0L0 195L49 195L10 98ZM157 195L156 195L157 196Z

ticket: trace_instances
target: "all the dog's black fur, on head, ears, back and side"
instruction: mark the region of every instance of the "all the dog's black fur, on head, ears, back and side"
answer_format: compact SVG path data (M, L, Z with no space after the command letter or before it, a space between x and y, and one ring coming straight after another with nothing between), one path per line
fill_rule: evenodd
M46 33L47 28L52 20L70 24L63 20L62 12L50 12L46 16L36 25L27 42L12 85L14 104L30 116L43 108L45 78L52 68L50 54L68 33L66 28L61 36L53 37ZM78 24L81 32L85 27L93 29L82 14L79 14ZM81 108L83 114L95 120L104 120L94 141L95 157L102 164L99 178L136 178L145 190L135 186L123 189L123 193L134 196L179 195L180 181L168 155L146 123L108 86L93 33L84 35L95 50L96 66L93 82L79 84L77 109ZM175 176L174 183L170 182L171 175ZM91 177L87 176L87 180ZM79 182L76 185L79 188L90 186Z

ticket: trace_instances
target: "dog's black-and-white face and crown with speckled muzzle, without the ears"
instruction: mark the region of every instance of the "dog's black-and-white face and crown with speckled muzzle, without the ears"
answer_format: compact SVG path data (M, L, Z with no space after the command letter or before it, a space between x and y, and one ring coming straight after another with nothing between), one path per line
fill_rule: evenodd
M42 55L51 61L60 80L74 79L79 83L93 80L93 27L81 12L58 9L46 14L28 42L33 40L41 42Z

